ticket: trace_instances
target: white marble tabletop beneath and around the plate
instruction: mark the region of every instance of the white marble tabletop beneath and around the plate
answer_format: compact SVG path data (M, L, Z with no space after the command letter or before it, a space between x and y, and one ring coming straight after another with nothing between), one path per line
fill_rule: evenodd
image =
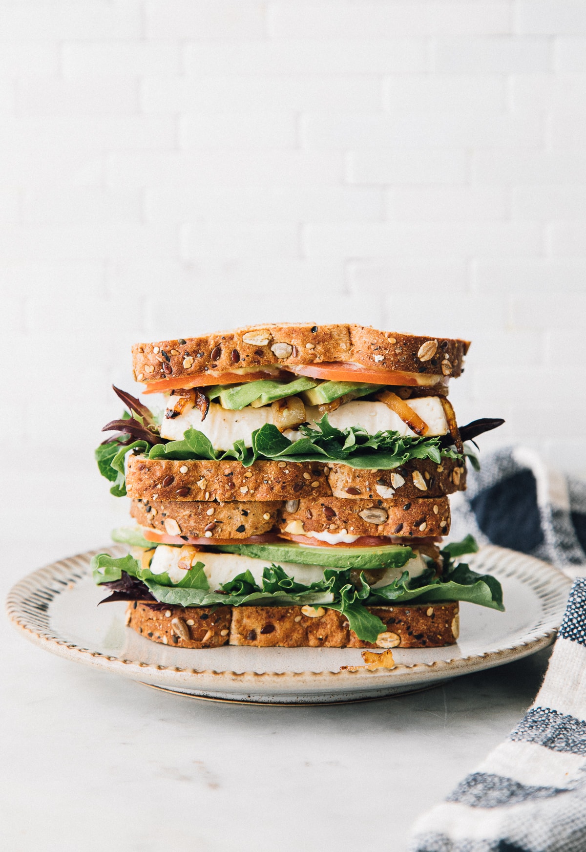
M49 531L56 506L48 504ZM6 547L3 593L89 540ZM55 527L52 527L55 530ZM503 739L549 651L444 687L325 707L160 693L35 648L4 619L2 809L11 852L406 849L415 817Z

